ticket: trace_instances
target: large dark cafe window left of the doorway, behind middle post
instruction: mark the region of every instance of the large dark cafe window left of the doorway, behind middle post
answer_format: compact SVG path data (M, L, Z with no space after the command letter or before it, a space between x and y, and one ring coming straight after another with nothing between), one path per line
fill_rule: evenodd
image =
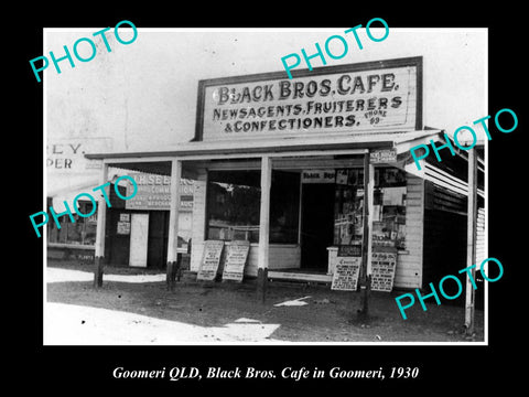
M210 171L207 238L259 243L260 197L260 171ZM299 205L299 173L272 171L270 243L298 243Z

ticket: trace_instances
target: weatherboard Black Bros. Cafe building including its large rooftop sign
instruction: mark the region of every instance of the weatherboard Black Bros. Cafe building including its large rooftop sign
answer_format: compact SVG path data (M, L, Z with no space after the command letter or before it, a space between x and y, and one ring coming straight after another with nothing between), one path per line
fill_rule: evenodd
M420 171L410 155L417 144L445 143L442 129L423 125L422 73L422 57L408 57L295 71L293 79L284 72L205 79L191 142L86 157L102 161L101 183L109 168L171 180L168 278L181 221L174 182L184 178L194 181L191 271L201 269L207 240L246 240L246 277L331 282L337 258L359 247L368 273L374 254L391 253L392 286L422 288L465 267L468 195L466 152L445 150ZM109 222L105 205L98 217ZM96 279L108 244L98 228Z

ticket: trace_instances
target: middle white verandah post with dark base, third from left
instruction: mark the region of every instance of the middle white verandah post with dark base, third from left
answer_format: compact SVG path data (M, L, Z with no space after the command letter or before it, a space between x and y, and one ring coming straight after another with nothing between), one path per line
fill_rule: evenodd
M264 302L268 283L268 258L270 238L270 186L272 182L272 160L261 159L261 201L259 216L259 251L257 269L257 297Z

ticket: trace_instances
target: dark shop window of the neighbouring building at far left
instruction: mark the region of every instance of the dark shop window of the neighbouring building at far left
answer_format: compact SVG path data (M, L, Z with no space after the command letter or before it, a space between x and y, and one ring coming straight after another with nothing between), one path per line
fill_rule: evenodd
M83 214L91 212L91 202L78 202L79 211ZM76 213L73 214L75 223L68 215L60 217L61 228L55 222L47 223L47 240L48 243L72 244L93 246L96 244L97 213L89 217L82 217Z

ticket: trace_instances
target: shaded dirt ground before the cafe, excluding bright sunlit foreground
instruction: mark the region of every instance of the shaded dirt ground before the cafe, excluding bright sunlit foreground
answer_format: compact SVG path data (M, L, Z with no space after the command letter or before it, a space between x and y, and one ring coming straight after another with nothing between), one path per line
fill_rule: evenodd
M48 260L48 271L63 269L91 272L93 266ZM106 275L160 275L160 270L106 267ZM179 324L196 325L197 332L225 328L226 324L249 322L277 324L264 339L277 342L482 342L484 312L476 310L476 333L464 333L464 308L442 300L436 305L427 300L428 311L420 303L407 310L403 320L391 293L371 292L370 318L359 321L359 292L332 291L328 286L270 282L266 302L257 299L255 281L242 283L204 283L184 278L173 292L164 281L122 282L104 281L102 288L93 287L90 276L82 281L47 282L47 302L111 310L159 319ZM109 277L110 278L110 277ZM67 278L66 278L67 279ZM163 279L160 275L159 279ZM48 280L50 281L50 280ZM56 281L56 280L55 280ZM294 305L276 305L298 300ZM242 319L242 320L241 320ZM130 325L133 326L133 325ZM206 335L199 341L207 340ZM215 342L223 343L217 336ZM174 344L179 344L174 335Z

